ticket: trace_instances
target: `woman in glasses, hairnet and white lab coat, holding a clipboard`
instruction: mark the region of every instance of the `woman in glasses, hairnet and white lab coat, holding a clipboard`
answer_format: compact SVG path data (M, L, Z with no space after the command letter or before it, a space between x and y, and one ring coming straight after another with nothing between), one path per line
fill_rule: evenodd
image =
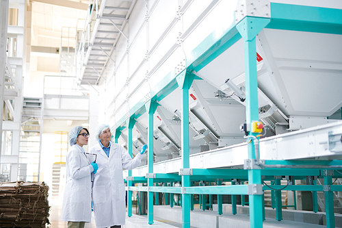
M81 126L69 133L70 150L66 155L66 188L62 206L62 221L68 221L68 228L83 228L92 219L90 173L98 168L90 164L83 149L88 144L89 131Z

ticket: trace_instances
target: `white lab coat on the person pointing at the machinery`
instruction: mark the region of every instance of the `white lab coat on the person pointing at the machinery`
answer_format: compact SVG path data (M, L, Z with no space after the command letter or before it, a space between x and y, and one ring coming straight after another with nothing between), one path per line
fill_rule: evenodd
M143 155L137 153L132 159L129 153L119 144L112 143L109 157L99 142L90 149L96 153L98 164L92 187L92 201L96 227L124 225L126 203L122 168L132 170L140 165Z

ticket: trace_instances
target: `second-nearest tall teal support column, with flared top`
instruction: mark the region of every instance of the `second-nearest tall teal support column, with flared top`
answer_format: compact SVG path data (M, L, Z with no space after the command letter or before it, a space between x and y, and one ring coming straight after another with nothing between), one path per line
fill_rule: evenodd
M182 164L183 168L189 168L189 88L194 81L194 76L185 71L176 77L177 84L182 90ZM190 186L189 175L182 176L182 187ZM190 227L190 195L182 194L182 227Z

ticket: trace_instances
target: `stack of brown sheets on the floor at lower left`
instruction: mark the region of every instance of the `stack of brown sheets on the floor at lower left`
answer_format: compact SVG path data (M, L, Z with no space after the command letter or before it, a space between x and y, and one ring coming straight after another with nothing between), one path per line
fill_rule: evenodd
M0 182L0 227L45 227L49 186L44 182Z

